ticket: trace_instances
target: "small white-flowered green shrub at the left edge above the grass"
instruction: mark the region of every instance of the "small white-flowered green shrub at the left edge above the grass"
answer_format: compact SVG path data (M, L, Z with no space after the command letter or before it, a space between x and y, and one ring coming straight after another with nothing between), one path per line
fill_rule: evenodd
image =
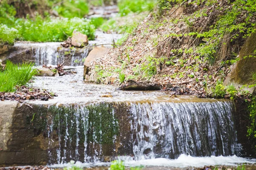
M6 25L0 25L0 44L8 42L13 44L15 39L19 37L18 30L15 28L8 28Z

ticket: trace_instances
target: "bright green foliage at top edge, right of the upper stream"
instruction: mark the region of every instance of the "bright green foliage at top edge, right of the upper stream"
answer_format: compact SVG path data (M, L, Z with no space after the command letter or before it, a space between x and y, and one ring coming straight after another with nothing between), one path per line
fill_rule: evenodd
M155 4L155 0L119 0L118 7L121 16L125 16L130 12L151 11Z

